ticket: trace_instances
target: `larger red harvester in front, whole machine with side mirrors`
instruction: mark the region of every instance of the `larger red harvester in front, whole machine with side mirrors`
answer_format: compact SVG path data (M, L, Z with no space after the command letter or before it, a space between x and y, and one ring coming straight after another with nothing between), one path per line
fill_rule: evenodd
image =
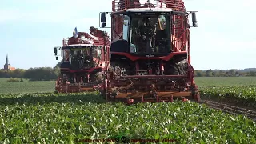
M198 27L198 12L186 11L182 0L113 0L112 10L100 13L102 28L106 14L111 16L106 98L129 103L200 101L189 30Z

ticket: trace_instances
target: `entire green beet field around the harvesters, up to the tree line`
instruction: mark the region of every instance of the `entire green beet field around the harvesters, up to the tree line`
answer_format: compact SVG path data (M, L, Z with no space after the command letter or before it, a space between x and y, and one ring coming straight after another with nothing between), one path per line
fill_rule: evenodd
M0 143L256 143L256 77L196 78L202 102L105 102L0 79Z

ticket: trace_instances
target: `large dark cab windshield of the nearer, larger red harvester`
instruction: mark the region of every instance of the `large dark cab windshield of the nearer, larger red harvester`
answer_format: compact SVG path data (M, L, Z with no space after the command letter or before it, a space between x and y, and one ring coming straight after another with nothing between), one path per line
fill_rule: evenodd
M147 15L132 17L130 21L130 53L168 54L170 37L166 29L165 15Z

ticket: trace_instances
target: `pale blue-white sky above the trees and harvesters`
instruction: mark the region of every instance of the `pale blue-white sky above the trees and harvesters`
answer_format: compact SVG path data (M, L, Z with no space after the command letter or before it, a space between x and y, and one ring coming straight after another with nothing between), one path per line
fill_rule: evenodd
M183 1L186 10L199 13L199 26L190 28L195 70L256 67L256 1ZM55 66L54 46L62 46L62 39L71 37L76 26L83 32L99 27L102 11L111 11L111 0L1 1L0 67L6 54L16 68Z

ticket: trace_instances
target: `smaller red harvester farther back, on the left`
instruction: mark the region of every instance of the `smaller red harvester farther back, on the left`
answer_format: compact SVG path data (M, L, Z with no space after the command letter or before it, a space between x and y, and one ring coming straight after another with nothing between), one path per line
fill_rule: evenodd
M55 90L60 93L92 91L102 85L102 71L106 64L106 46L110 38L101 30L90 27L90 34L77 32L63 39L62 47L55 47L54 53L62 50L61 76ZM58 59L58 57L56 57Z

